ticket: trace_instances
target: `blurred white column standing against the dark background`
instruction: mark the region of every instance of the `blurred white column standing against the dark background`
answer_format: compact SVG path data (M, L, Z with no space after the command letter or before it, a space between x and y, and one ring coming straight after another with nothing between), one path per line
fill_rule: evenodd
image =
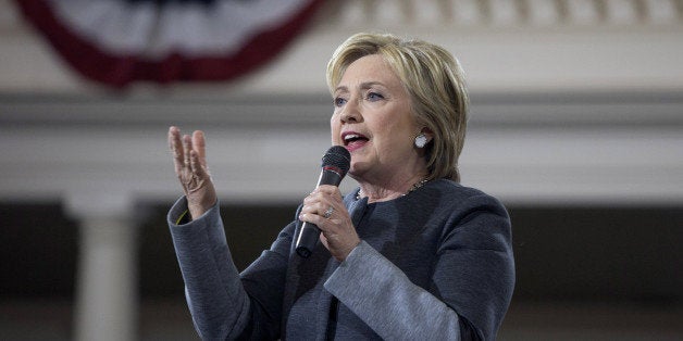
M80 223L74 340L137 339L137 222L128 195L72 193Z

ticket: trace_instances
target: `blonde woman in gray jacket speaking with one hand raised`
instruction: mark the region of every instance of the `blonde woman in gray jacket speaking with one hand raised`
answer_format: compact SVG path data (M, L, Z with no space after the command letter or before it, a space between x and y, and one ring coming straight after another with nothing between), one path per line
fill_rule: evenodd
M198 333L494 340L514 287L511 227L498 200L459 184L468 94L458 62L422 40L357 34L334 52L327 85L332 144L350 153L359 188L319 186L243 273L203 134L170 128L184 195L167 218ZM309 257L295 251L305 223L321 230Z

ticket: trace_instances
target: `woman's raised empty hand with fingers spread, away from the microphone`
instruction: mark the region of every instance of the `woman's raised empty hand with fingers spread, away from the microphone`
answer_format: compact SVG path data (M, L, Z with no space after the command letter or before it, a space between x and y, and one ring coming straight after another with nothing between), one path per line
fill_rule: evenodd
M175 175L187 198L193 218L201 216L216 202L215 188L207 166L207 143L200 130L181 137L181 129L169 128L169 148L173 153Z

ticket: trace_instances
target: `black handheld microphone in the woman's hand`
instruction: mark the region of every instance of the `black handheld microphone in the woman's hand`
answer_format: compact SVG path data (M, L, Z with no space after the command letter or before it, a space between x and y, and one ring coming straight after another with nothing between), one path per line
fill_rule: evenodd
M346 148L342 146L333 146L323 155L322 172L318 179L316 188L321 185L339 186L342 179L349 171L351 166L351 154ZM303 222L301 225L301 231L297 239L296 250L297 253L308 258L313 252L313 248L320 239L320 229L315 224Z

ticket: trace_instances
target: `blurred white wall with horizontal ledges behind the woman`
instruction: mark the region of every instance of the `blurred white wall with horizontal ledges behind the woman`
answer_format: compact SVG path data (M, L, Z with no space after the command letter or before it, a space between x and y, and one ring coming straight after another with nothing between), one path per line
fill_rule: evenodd
M514 203L683 200L678 2L417 3L332 2L249 77L112 94L0 1L0 199L174 195L164 134L178 124L208 130L225 200L297 200L328 144L326 60L355 31L389 30L439 42L464 65L465 184ZM273 165L286 180L263 171Z

